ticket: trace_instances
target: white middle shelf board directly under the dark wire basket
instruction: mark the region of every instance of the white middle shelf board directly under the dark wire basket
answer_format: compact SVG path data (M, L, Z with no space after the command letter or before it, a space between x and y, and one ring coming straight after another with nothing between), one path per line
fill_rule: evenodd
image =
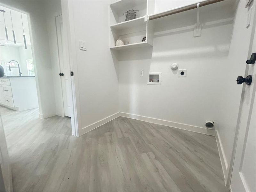
M125 29L129 29L129 28L142 26L142 25L144 25L144 23L145 23L144 17L140 17L140 18L136 18L133 20L124 21L121 23L110 25L110 28L115 29L115 30L125 30Z

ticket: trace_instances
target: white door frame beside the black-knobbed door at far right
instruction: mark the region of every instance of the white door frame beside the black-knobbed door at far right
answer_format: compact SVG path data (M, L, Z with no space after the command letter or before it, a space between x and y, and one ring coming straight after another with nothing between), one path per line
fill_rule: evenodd
M255 16L256 16L255 5L256 4L255 3L252 5L252 8L254 9L254 15L251 16L251 19L254 18L254 21L252 20L252 22L253 22L252 23L253 24L252 25L252 34L251 34L251 40L250 40L249 52L248 52L247 58L251 57L251 54L252 54L251 50L252 50L252 46L253 46L253 38L254 38L254 36L256 36L256 19L255 19ZM253 30L254 30L254 33L253 33ZM248 70L249 70L249 65L246 65L245 72L244 72L245 77L247 76ZM225 183L226 186L228 186L228 187L230 187L230 184L231 184L231 177L232 177L233 166L234 166L234 162L235 162L236 147L237 147L239 130L240 130L240 121L241 121L241 116L242 116L243 98L244 98L244 93L245 93L246 86L247 86L246 84L243 84L243 89L242 89L242 93L241 93L241 100L240 100L239 110L238 110L238 117L237 117L237 122L236 122L235 139L234 139L234 143L233 143L231 160L230 160L230 163L228 165L228 175L227 175L227 180L226 180L226 183Z

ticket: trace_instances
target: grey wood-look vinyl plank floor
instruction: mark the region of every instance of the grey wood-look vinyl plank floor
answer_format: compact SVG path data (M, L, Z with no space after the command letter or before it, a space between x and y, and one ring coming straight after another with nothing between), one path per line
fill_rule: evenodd
M117 117L74 137L68 117L1 113L14 191L229 191L213 136Z

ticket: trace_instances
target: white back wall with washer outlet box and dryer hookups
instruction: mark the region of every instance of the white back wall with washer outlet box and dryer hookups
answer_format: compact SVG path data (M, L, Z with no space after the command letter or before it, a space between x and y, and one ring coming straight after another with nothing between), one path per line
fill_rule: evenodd
M229 18L230 12L227 10L222 18ZM218 74L227 60L233 24L229 20L209 24L195 38L193 29L175 31L189 24L188 15L184 15L172 16L170 21L175 21L172 25L156 26L153 50L119 53L121 112L203 128L206 120L218 121L222 83ZM201 18L203 23L209 22L211 14L209 18L205 16ZM185 24L180 26L180 23ZM171 70L174 62L179 69L187 69L186 78ZM139 76L140 69L144 70L143 77ZM147 85L149 71L162 72L161 85Z

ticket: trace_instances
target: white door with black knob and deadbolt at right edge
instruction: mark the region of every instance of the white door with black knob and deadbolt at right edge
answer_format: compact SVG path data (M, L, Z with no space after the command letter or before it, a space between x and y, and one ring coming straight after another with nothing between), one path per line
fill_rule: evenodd
M250 57L252 53L256 53L255 7L253 7L253 9L253 21L251 22L253 29L248 57ZM246 65L245 76L252 75L252 84L250 86L243 85L241 98L242 111L230 185L232 191L256 191L256 63Z

